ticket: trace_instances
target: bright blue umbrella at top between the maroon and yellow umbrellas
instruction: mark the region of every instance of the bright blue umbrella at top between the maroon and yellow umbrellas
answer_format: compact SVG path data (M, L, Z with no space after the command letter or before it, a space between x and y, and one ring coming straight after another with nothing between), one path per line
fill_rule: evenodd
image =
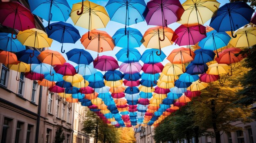
M50 21L67 21L71 8L66 0L28 0L33 14L48 21L48 29L52 26Z

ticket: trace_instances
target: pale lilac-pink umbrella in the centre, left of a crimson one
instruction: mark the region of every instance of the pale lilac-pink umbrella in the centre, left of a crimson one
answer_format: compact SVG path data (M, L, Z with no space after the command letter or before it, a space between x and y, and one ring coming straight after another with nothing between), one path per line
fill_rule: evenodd
M139 62L135 63L122 63L120 65L120 71L123 73L134 74L139 73L141 71L142 66Z

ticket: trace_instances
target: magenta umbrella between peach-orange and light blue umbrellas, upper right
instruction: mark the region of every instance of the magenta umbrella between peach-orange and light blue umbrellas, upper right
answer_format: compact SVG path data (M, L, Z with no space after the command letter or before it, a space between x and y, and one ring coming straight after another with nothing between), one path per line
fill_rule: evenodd
M206 37L205 27L203 25L195 25L195 26L179 26L175 31L178 38L175 40L175 43L179 46L186 46L189 45L189 52L191 55L191 48L190 45L195 45L200 40ZM201 33L204 34L201 34Z

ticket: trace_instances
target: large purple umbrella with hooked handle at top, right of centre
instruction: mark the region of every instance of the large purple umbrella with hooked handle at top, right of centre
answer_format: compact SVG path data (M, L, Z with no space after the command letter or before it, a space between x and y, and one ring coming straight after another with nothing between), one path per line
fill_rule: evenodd
M151 0L147 3L148 13L146 22L148 25L164 26L180 21L184 9L179 0ZM164 36L165 37L165 36ZM164 38L159 40L164 41Z

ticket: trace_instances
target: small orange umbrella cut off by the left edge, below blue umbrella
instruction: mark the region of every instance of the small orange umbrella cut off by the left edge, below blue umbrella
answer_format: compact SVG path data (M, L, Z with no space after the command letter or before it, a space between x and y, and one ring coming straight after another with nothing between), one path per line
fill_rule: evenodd
M9 69L9 64L17 64L18 59L14 53L0 51L0 63L7 65L7 68Z

